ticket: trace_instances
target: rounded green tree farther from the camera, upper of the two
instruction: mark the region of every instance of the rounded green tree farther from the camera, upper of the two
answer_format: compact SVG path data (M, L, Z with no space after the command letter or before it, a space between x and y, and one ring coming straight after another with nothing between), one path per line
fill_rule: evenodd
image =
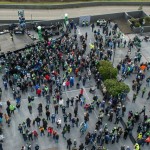
M109 61L100 61L98 63L98 71L100 72L103 80L106 79L115 79L117 77L117 69L113 67Z

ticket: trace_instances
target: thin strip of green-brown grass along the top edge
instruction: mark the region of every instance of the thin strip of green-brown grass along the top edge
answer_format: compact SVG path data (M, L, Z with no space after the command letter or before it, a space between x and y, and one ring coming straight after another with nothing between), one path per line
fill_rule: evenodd
M0 0L0 4L67 4L79 2L150 2L150 0Z

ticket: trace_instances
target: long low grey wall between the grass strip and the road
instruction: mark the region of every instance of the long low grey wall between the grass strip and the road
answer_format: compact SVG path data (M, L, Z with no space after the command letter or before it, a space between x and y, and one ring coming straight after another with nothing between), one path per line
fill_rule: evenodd
M75 4L61 4L61 5L28 5L28 4L12 4L12 5L0 5L0 8L11 8L11 9L64 9L64 8L77 8L77 7L92 7L92 6L150 6L150 2L79 2ZM33 7L34 6L34 7Z

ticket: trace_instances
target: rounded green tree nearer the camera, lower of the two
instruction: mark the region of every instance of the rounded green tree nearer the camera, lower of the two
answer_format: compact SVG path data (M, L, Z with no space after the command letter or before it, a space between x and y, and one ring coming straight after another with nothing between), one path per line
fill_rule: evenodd
M107 79L104 81L104 85L106 87L108 94L115 97L123 92L125 93L130 92L130 88L128 85L126 85L123 82L118 82L116 79Z

